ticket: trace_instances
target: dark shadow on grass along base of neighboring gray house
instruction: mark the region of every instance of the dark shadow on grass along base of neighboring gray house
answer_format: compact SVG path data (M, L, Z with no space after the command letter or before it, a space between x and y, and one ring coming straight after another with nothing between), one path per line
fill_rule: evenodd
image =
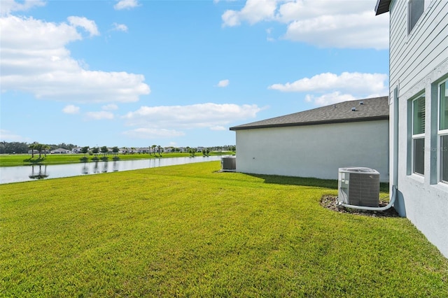
M337 180L319 179L307 177L292 177L292 176L277 176L277 175L262 175L246 173L248 176L253 176L265 180L265 183L281 184L281 185L301 185L311 187L325 187L332 190L337 190ZM389 192L389 183L379 183L380 192Z

